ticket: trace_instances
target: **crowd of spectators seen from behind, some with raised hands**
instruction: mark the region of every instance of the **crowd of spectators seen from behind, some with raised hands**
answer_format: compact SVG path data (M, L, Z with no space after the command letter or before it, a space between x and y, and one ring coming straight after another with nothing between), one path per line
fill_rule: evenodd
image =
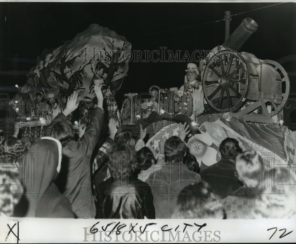
M220 144L221 161L200 168L186 143L186 124L165 141L156 159L145 147L146 130L134 138L104 121L101 85L89 125L75 140L66 117L77 93L50 118L46 137L25 145L16 135L1 141L0 212L15 217L130 219L253 219L296 217L296 175L269 168L234 138ZM19 124L16 129L19 129ZM28 160L24 160L24 155ZM30 155L34 155L34 160Z

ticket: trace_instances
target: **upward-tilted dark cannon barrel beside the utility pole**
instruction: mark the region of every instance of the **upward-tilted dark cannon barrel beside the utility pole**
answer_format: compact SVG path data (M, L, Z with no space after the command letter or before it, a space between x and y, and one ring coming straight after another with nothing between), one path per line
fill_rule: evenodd
M223 47L230 48L234 51L239 51L242 45L249 39L249 37L258 28L255 20L247 17L242 20L242 24L230 35L230 37L223 43Z

